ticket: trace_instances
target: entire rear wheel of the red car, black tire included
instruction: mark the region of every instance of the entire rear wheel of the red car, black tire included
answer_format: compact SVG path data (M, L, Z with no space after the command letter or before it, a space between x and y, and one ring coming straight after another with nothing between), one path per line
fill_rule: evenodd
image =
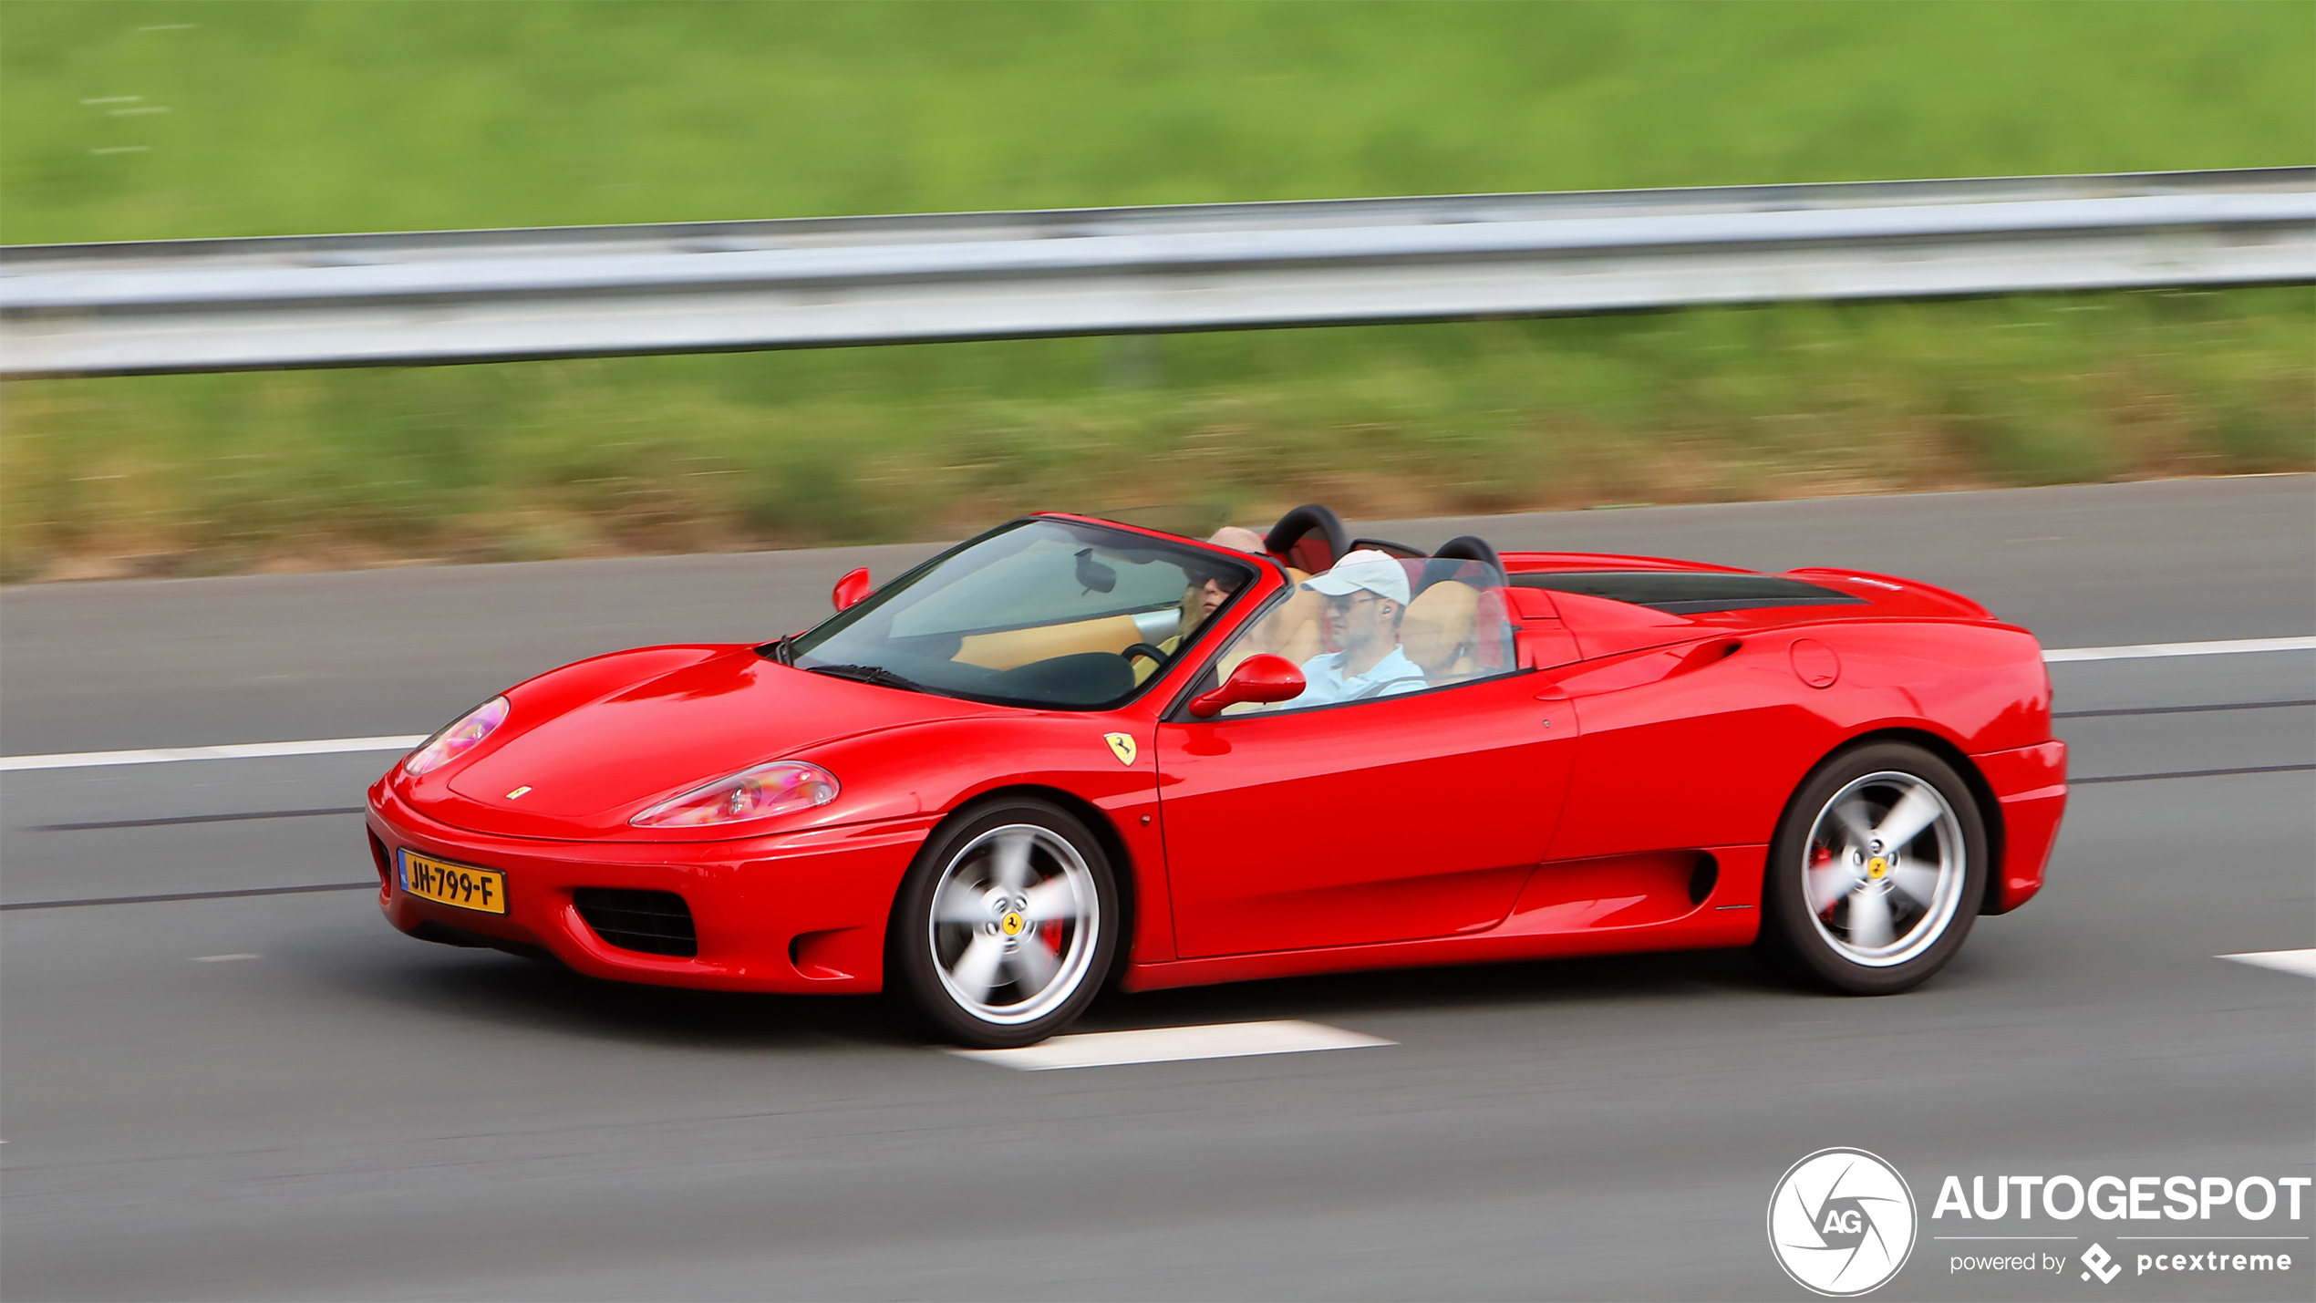
M1955 766L1911 743L1839 752L1802 780L1769 840L1760 949L1848 995L1908 991L1971 935L1987 870L1985 819Z

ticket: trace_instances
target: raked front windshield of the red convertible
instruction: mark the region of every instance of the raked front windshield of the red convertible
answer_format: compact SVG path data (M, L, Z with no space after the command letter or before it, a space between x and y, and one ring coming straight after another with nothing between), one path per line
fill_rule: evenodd
M1255 579L1251 560L1077 521L1021 521L787 646L790 664L1017 706L1116 706Z

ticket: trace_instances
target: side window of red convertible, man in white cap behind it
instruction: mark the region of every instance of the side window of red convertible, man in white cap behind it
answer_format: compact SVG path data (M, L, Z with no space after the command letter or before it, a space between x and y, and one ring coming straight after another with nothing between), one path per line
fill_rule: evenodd
M1348 574L1348 565L1359 562L1346 558L1346 565L1329 576ZM1200 690L1230 676L1239 662L1258 653L1285 657L1302 669L1302 697L1271 706L1230 706L1225 715L1373 701L1517 669L1503 574L1473 560L1394 558L1390 565L1399 567L1399 586L1390 583L1390 576L1373 588L1348 583L1362 579L1359 574L1332 583L1350 588L1348 592L1297 586L1239 632L1216 657ZM1410 597L1399 602L1397 592Z

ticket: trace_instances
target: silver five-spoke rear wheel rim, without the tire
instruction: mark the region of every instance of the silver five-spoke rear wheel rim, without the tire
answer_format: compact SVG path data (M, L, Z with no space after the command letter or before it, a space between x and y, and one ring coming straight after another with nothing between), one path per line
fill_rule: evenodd
M1853 780L1818 810L1802 852L1809 921L1841 958L1897 967L1945 935L1969 877L1962 819L1913 773Z

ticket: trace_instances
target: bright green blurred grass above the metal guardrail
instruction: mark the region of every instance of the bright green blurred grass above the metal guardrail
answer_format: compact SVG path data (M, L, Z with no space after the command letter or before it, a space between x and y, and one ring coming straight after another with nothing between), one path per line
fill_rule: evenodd
M9 243L2316 155L2295 0L9 0L0 37Z

